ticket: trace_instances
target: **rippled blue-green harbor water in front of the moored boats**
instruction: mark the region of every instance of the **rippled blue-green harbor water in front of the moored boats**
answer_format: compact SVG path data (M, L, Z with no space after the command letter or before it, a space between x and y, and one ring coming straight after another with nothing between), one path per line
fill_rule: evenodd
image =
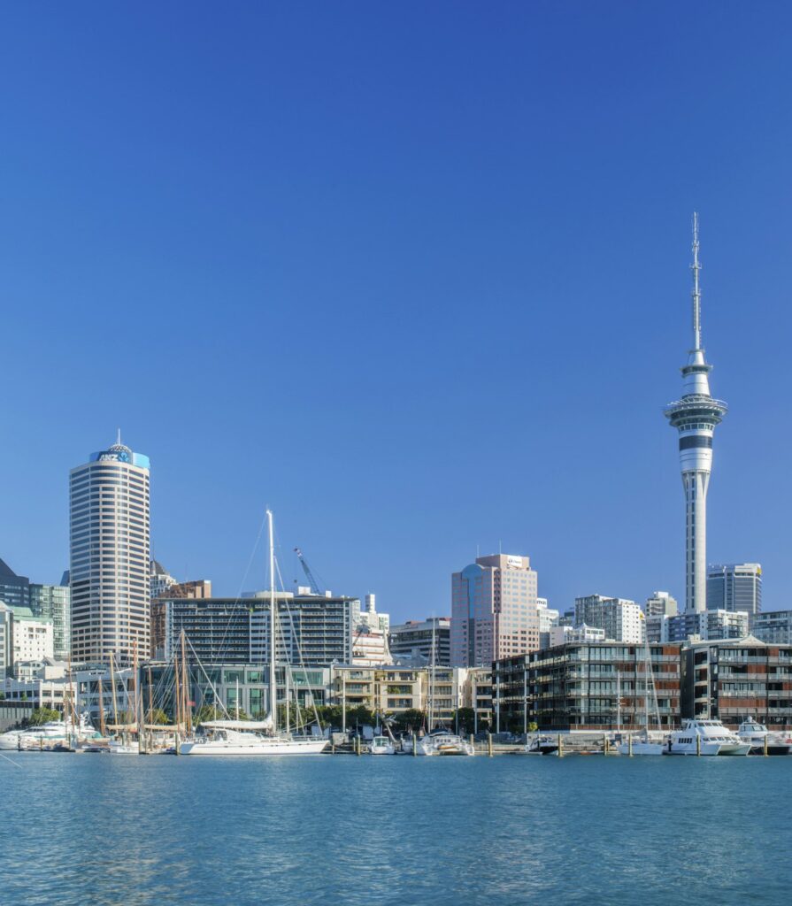
M0 759L0 901L782 903L792 758Z

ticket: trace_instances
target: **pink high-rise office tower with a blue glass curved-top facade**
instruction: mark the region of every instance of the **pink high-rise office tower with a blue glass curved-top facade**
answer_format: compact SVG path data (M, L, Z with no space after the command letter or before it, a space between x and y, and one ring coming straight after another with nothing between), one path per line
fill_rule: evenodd
M477 557L451 577L451 666L488 666L539 647L536 571L524 556Z

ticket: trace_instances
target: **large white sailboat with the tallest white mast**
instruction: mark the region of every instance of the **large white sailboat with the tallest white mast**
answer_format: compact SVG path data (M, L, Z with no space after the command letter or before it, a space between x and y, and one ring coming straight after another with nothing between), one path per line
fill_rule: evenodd
M266 511L269 534L269 714L264 720L208 720L200 736L181 743L182 755L273 756L320 755L327 740L278 732L275 685L275 540L272 510ZM238 700L238 699L237 699Z

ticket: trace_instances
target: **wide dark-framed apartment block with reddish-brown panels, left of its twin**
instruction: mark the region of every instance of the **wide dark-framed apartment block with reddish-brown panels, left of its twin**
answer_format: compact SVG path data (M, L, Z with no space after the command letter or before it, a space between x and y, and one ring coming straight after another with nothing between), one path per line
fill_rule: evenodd
M501 730L642 728L647 699L650 727L672 727L680 695L679 645L575 643L493 664Z

